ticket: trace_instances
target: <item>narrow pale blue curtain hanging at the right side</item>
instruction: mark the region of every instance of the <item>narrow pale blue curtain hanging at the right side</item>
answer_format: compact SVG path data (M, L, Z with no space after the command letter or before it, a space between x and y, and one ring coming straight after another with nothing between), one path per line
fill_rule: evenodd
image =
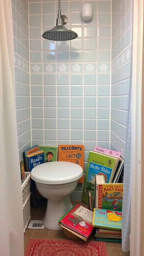
M131 45L132 52L132 45ZM132 101L132 55L130 67L129 101L127 116L127 132L124 164L124 192L122 199L122 250L130 250L130 218L131 218L131 101Z

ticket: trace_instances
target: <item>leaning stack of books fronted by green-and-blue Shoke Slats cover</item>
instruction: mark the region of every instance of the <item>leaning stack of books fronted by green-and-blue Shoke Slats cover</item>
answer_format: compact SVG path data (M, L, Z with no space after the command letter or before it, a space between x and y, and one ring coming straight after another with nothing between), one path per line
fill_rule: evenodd
M105 183L118 183L124 165L120 152L95 147L89 152L86 177L82 201L88 203L88 194L91 194L91 201L94 207L95 201L95 175L103 175Z

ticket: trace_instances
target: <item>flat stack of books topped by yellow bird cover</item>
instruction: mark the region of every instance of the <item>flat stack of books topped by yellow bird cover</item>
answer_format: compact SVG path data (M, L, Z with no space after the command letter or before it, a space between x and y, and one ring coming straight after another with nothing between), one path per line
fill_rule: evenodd
M95 240L121 243L122 212L94 208Z

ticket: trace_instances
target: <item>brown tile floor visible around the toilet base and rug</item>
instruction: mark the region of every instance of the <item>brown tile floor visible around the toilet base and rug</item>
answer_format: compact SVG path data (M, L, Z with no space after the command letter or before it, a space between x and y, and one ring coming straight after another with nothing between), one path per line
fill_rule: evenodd
M80 204L83 206L87 206L84 202L81 201L72 201L74 204ZM32 220L42 220L46 210L46 202L44 202L38 208L31 207L31 219ZM49 229L26 229L24 234L24 249L27 246L29 238L45 238L45 239L68 239L63 230L53 231ZM92 233L91 236L88 238L89 241L94 240L94 234ZM129 256L129 252L124 252L121 249L121 243L112 243L106 242L108 256Z

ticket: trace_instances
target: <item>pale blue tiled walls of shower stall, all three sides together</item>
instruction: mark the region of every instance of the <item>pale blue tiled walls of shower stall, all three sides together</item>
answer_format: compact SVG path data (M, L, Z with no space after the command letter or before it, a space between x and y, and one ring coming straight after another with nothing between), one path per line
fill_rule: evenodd
M87 2L93 16L84 22ZM42 39L56 25L57 1L12 0L12 11L20 158L31 145L84 144L86 171L95 145L124 155L131 0L61 1L66 27L78 34L64 42ZM82 190L78 184L72 200L81 200Z

